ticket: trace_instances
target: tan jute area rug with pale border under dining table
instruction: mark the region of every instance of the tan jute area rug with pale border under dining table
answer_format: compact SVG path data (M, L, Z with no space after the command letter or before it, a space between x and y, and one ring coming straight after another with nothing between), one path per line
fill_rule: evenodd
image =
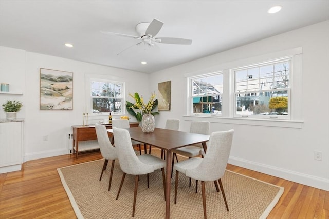
M153 151L154 149L152 149ZM152 152L153 153L153 152ZM182 159L181 157L179 159ZM99 181L104 160L59 168L62 184L77 218L132 218L135 176L126 175L118 200L122 171L115 161L111 191L108 190L111 161ZM222 178L229 211L221 192L213 182L205 182L208 218L266 218L279 201L284 188L271 185L231 171ZM171 180L171 218L203 218L201 183L195 193L195 181L179 174L177 204L174 204L175 174ZM166 202L161 171L140 176L134 218L165 218Z

